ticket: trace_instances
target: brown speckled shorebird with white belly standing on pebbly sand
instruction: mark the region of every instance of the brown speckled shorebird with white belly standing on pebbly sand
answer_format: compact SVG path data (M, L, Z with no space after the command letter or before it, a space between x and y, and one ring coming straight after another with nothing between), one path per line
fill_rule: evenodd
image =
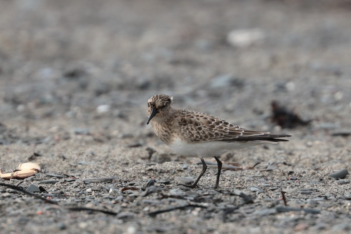
M217 161L218 172L213 189L219 185L222 162L219 156L235 149L261 144L277 144L288 141L291 135L258 132L233 125L209 114L171 107L172 96L158 94L147 101L148 120L155 134L174 152L188 157L200 158L203 168L198 178L189 188L197 184L206 172L204 158L213 157Z

